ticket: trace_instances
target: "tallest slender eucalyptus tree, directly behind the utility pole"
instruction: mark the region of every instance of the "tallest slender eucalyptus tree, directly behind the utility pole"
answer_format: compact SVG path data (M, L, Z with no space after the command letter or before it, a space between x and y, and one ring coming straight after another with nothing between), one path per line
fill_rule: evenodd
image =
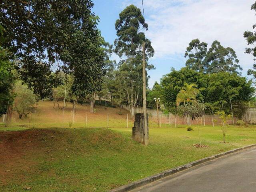
M148 24L139 8L127 6L116 20L115 52L121 58L118 66L118 78L126 91L131 116L134 116L139 94L142 92L142 42L145 41L146 60L152 57L154 49L150 40L145 38L143 29L148 30ZM148 70L154 66L146 63Z

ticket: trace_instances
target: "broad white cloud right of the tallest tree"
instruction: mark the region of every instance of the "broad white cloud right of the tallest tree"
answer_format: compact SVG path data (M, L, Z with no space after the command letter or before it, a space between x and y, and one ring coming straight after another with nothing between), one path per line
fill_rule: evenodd
M218 40L236 51L244 74L252 67L253 57L244 53L245 30L256 23L250 10L254 0L144 0L146 36L155 49L154 58L184 54L188 43L195 38L208 45ZM123 6L141 1L126 0Z

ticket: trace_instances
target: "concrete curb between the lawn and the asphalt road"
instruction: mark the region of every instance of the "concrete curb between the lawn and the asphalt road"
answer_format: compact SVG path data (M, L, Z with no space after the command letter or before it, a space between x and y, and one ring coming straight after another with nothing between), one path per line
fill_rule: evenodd
M116 189L110 190L109 192L128 192L130 190L133 190L133 189L138 188L140 186L144 186L144 185L149 184L151 182L154 182L156 180L162 179L166 176L170 176L174 173L180 172L182 170L186 170L186 169L188 169L190 167L193 167L193 166L196 166L198 164L202 164L204 162L208 162L210 160L213 160L213 159L216 159L216 158L219 158L219 157L222 157L222 156L234 153L234 152L238 152L240 150L245 150L245 149L248 149L248 148L252 148L252 147L255 147L255 146L256 146L256 144L252 144L252 145L244 146L244 147L241 147L241 148L233 149L233 150L230 150L230 151L226 151L226 152L223 152L223 153L219 153L219 154L216 154L216 155L213 155L213 156L210 156L210 157L206 157L206 158L203 158L203 159L200 159L200 160L196 160L196 161L193 161L193 162L188 163L186 165L182 165L182 166L179 166L179 167L176 167L176 168L173 168L173 169L169 169L169 170L166 170L164 172L158 173L156 175L146 177L142 180L138 180L138 181L132 182L130 184L120 186Z

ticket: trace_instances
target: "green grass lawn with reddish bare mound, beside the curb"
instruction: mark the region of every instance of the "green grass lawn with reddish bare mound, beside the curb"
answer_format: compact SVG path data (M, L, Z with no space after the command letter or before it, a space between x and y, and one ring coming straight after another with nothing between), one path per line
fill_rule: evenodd
M104 192L163 170L256 143L256 131L228 126L226 143L220 126L198 130L151 128L150 144L134 142L131 128L10 127L0 132L0 191ZM4 130L0 125L0 130ZM19 130L19 131L14 131ZM67 150L65 150L67 149ZM6 170L10 170L6 172Z

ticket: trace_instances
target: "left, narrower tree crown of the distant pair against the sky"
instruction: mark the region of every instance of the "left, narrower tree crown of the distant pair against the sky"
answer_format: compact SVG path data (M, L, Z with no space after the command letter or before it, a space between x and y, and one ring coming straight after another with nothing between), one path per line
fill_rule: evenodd
M205 57L207 53L207 43L201 42L199 39L194 39L189 43L187 50L185 52L185 56L188 56L188 60L186 61L186 66L188 68L204 72L205 68Z

